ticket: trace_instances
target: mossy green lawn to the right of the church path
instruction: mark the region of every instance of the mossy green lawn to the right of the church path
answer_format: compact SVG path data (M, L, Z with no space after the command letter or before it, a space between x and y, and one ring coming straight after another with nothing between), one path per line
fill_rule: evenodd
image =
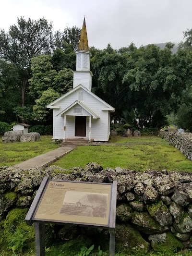
M170 146L165 140L156 136L145 137L113 137L110 142L138 143L161 142L153 145L124 146L79 146L54 165L64 169L84 166L89 162L97 162L103 168L126 168L135 171L147 169L168 171L192 171L192 161L185 158L178 149Z

